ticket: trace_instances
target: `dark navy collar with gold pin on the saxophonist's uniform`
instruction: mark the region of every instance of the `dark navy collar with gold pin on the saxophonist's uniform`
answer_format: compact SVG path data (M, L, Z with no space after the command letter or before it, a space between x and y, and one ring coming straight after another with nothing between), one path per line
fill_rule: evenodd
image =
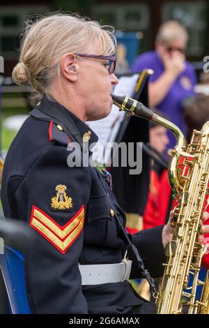
M40 100L40 103L36 105L36 108L47 113L49 117L52 117L52 120L59 119L61 124L65 127L68 127L68 119L71 122L73 121L84 143L88 141L88 144L90 145L93 142L98 142L98 136L91 130L91 128L56 100L50 100L44 96L42 100Z

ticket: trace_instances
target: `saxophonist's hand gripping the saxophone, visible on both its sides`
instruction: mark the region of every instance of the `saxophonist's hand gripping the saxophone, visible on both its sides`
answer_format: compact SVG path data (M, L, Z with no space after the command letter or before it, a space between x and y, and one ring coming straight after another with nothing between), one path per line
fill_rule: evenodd
M175 228L173 228L173 226L171 225L172 218L173 218L173 211L170 212L169 221L166 225L164 225L164 228L162 229L162 244L164 248L165 246L167 246L169 241L173 239L173 233L175 231ZM203 212L203 223L207 221L208 218L209 218L209 213ZM204 237L204 234L209 233L209 225L203 225L203 223L201 225L201 230L198 234L196 241L198 241L201 244L207 244L206 241L208 241L208 239ZM209 244L208 244L208 248L209 248Z

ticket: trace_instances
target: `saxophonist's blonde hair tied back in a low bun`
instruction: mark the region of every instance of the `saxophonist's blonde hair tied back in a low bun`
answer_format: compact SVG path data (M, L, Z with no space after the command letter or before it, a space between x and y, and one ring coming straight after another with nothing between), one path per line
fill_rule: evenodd
M84 53L91 41L100 45L100 54L116 50L114 28L100 26L87 17L56 13L26 22L20 46L20 60L13 69L16 84L31 84L33 100L47 94L47 88L56 74L59 61L67 52ZM47 96L49 96L47 94Z

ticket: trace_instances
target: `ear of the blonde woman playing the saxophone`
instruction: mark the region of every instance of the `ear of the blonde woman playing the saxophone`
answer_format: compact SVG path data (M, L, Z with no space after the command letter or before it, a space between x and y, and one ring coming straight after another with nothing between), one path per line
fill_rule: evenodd
M61 73L70 82L77 81L79 65L75 61L75 54L72 53L64 54L60 61Z

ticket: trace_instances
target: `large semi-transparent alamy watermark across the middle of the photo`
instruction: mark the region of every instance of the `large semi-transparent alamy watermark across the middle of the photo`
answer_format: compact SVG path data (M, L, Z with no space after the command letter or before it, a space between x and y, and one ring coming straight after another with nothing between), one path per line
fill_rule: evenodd
M112 167L129 167L130 174L140 174L142 171L142 142L106 142L105 146L99 142L93 142L88 145L88 142L84 142L82 147L77 142L68 144L67 163L69 167L96 167L98 161L93 158L91 152L93 147L104 148L104 152L111 156ZM83 151L82 151L83 148ZM105 156L104 156L105 157ZM102 163L109 166L109 163Z

